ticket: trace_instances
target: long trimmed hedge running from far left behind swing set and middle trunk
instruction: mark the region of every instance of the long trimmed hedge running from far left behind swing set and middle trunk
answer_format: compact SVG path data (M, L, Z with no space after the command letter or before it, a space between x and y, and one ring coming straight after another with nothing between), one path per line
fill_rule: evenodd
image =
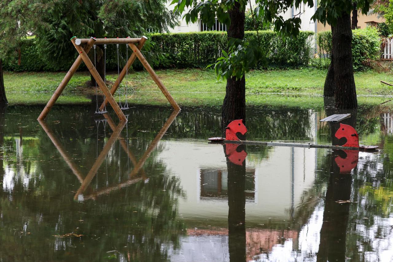
M301 31L296 38L281 39L274 31L259 31L259 40L264 50L270 67L298 67L306 66L310 61L311 31ZM255 31L246 31L246 37L255 39ZM227 45L225 31L207 31L195 33L167 33L149 35L149 48L144 54L154 68L193 68L206 67L215 63L221 56L222 50ZM70 46L72 48L72 46ZM117 70L116 46L108 45L107 70ZM129 55L130 55L129 50ZM121 45L120 55L125 55L125 47ZM64 57L62 66L53 68L40 57L35 44L35 39L26 39L21 44L21 65L18 65L18 55L4 60L4 70L21 71L59 71L68 70L74 57ZM121 58L121 66L125 59ZM141 69L140 63L135 63L134 68ZM86 67L81 65L80 70Z

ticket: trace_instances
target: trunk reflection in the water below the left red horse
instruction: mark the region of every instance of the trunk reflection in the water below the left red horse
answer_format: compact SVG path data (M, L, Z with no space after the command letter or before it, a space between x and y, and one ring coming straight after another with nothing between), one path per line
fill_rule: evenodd
M246 261L246 161L242 166L227 159L228 167L228 246L231 262Z

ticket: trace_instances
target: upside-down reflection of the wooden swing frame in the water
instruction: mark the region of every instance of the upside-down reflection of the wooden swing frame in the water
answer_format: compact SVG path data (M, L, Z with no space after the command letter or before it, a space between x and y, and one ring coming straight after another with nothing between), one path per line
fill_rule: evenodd
M113 134L110 136L108 139L107 143L103 147L101 153L97 156L96 161L94 162L92 168L86 175L86 177L83 177L82 173L78 170L77 166L72 162L71 157L68 155L67 151L64 149L62 144L59 142L59 140L55 137L53 132L50 130L46 122L40 121L39 123L42 126L42 129L46 132L50 140L52 141L53 145L57 148L59 151L60 155L63 157L64 161L68 164L72 172L75 174L75 176L78 178L78 180L81 182L81 186L77 190L77 193L74 196L74 199L80 199L80 200L86 200L86 199L96 199L97 197L103 195L103 194L109 194L110 192L114 190L119 190L123 187L132 185L134 183L137 183L141 180L146 179L145 172L143 171L142 167L143 164L145 164L146 160L149 158L151 152L156 148L158 142L162 139L163 135L167 132L168 128L171 126L172 122L178 115L179 111L175 110L172 112L171 116L169 116L168 120L165 122L165 124L162 126L160 131L157 133L156 137L152 142L150 143L149 147L143 153L141 159L137 161L136 157L132 154L132 152L129 150L129 147L127 146L126 140L120 136L121 131L127 124L127 122L120 122L117 126L114 124L112 118L110 118L109 114L104 113L103 116L106 118L107 123L109 124L110 128L113 131ZM105 121L105 120L104 120ZM98 125L97 125L97 131L98 131ZM128 137L127 137L128 139ZM124 149L124 151L127 153L129 160L132 162L134 165L134 168L132 168L131 172L128 175L128 179L126 181L123 181L115 186L107 186L106 188L102 188L99 190L96 190L93 193L83 195L90 183L92 182L94 176L97 174L97 171L101 164L104 162L106 159L110 149L116 142L116 140L119 140L121 147ZM98 148L98 146L97 146ZM141 172L140 172L141 171ZM141 176L136 176L138 173L141 173ZM107 182L108 185L108 182Z

